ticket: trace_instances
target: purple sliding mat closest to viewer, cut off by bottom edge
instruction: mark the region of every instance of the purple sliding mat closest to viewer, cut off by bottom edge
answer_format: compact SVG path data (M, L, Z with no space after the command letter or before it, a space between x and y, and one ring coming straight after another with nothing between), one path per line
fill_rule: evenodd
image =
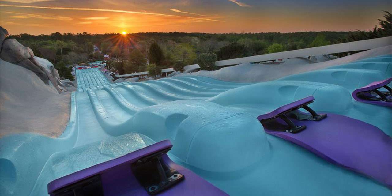
M51 196L227 195L167 156L169 140L155 143L51 181Z

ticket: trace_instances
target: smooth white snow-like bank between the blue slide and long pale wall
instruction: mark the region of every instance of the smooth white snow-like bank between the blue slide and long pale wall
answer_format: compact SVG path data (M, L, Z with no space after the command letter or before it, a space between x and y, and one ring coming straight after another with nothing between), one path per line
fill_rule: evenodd
M229 82L265 82L283 78L292 74L314 71L334 65L347 64L356 60L391 53L391 45L389 45L325 62L314 63L307 58L290 58L284 59L284 62L276 61L275 63L266 62L263 64L240 64L231 67L224 67L216 71L198 71L195 73L177 72L172 74L172 76L197 75Z

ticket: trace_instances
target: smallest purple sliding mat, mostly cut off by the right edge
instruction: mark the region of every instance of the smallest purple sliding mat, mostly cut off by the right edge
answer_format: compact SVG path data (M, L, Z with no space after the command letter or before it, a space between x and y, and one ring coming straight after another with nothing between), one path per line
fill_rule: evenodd
M379 82L372 82L365 87L356 89L352 92L352 97L358 102L392 107L391 88L387 86L390 82L391 78ZM378 89L380 88L385 88L387 91L379 91Z

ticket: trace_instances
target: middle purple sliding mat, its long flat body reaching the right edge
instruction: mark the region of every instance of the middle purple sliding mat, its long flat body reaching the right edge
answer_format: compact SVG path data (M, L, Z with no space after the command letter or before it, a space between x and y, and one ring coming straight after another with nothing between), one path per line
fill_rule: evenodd
M268 134L296 143L331 163L365 174L391 188L391 138L377 127L353 118L330 113L320 115L311 109L314 115L298 111L299 107L308 109L306 104L313 100L310 96L284 105L260 115L258 120ZM323 117L313 118L316 115Z

